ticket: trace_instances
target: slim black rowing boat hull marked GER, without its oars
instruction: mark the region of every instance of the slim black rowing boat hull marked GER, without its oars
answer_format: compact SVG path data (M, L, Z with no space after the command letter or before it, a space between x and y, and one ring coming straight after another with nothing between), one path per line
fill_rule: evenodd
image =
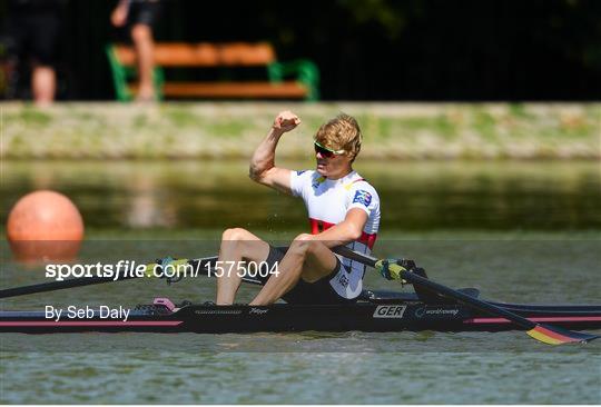
M477 296L475 289L463 289ZM558 306L491 302L533 322L565 329L601 329L601 305ZM166 298L131 309L127 320L105 317L99 310L88 316L62 317L56 321L43 311L1 311L1 332L259 332L259 331L504 331L520 329L505 318L492 317L465 305L426 301L413 292L364 291L351 305L289 305L265 307L216 306Z

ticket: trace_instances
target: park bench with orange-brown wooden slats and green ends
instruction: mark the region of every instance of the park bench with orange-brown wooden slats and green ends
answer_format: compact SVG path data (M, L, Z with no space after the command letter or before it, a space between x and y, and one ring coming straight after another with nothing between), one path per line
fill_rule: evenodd
M128 101L136 95L136 53L125 44L106 48L117 100ZM166 80L165 69L205 68L218 70L226 80L173 81ZM262 78L231 79L235 71L260 68ZM263 68L266 69L263 71ZM308 60L279 62L274 48L258 43L179 43L155 44L154 81L156 95L164 98L209 99L304 99L319 97L319 71Z

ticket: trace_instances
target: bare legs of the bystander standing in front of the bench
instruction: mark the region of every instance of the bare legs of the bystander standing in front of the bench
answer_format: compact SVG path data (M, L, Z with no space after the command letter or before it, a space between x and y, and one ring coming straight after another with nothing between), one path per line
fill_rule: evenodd
M155 43L152 41L152 30L147 24L134 24L131 27L131 39L136 56L138 58L138 100L152 100L155 88L152 86L152 69L155 67Z

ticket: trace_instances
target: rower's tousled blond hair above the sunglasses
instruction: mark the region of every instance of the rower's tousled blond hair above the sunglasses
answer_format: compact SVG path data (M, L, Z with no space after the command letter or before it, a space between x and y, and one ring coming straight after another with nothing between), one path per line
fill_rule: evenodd
M322 125L315 135L315 141L332 150L344 150L353 160L361 150L362 139L357 120L345 113Z

